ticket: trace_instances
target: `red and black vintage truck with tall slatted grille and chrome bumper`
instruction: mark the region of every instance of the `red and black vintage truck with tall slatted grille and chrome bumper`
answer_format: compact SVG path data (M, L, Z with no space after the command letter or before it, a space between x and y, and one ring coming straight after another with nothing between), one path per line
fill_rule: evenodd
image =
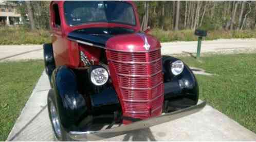
M140 31L128 1L53 1L44 44L48 112L58 140L99 140L201 110L198 84L179 59Z

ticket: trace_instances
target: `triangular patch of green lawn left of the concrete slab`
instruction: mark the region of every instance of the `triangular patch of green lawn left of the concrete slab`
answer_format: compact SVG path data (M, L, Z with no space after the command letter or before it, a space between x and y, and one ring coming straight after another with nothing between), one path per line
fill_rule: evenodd
M42 60L0 62L0 141L5 141L44 69Z

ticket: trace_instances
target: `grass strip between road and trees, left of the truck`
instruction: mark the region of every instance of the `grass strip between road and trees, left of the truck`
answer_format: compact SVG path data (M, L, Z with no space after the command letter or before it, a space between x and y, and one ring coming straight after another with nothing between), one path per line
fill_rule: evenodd
M50 33L47 30L30 31L22 27L0 28L0 45L43 44L49 42Z

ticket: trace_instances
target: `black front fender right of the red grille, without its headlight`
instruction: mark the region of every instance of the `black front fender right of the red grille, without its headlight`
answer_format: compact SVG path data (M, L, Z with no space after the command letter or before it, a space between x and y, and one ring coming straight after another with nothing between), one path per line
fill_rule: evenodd
M198 83L192 70L184 63L184 70L181 74L174 76L171 73L170 64L177 58L162 56L163 78L164 78L164 99L175 100L175 98L189 99L187 106L196 105L199 97ZM182 102L185 103L185 102Z

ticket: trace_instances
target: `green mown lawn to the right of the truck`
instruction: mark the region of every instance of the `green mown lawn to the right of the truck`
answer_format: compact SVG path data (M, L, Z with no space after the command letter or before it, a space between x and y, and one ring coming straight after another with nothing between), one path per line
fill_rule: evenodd
M189 66L216 76L196 75L200 99L256 132L256 54L180 57Z

